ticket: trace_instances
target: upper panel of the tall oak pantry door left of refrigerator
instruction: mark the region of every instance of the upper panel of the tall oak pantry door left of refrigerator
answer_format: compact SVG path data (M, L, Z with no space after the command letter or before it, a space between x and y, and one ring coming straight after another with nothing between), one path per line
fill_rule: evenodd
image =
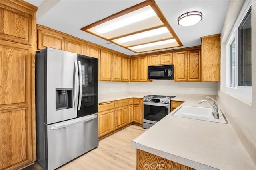
M26 83L30 80L28 50L0 43L0 105L26 102Z

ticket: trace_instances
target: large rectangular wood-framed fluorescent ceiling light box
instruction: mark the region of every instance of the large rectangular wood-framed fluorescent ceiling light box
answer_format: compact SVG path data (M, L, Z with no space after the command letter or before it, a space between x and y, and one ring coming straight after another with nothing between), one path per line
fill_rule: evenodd
M81 28L135 53L183 46L154 0Z

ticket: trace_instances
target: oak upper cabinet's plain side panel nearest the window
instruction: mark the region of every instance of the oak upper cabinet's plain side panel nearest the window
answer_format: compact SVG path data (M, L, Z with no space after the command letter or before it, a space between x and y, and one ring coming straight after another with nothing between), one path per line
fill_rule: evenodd
M220 34L201 37L202 81L220 81Z

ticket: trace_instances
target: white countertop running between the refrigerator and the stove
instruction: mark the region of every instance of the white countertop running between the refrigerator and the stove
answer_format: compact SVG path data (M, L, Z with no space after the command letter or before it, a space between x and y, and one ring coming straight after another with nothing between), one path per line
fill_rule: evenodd
M107 93L107 94L99 94L98 102L110 102L114 100L121 100L127 98L143 98L146 95L150 95L152 93L149 92L117 92L117 93Z

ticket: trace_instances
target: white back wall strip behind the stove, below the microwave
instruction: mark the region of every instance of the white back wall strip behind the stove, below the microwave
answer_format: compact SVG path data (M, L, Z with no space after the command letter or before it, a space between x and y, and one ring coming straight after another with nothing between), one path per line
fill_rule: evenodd
M129 92L152 92L157 95L176 94L217 95L216 82L174 82L173 80L153 80L153 82L130 82ZM194 92L193 92L194 91Z

